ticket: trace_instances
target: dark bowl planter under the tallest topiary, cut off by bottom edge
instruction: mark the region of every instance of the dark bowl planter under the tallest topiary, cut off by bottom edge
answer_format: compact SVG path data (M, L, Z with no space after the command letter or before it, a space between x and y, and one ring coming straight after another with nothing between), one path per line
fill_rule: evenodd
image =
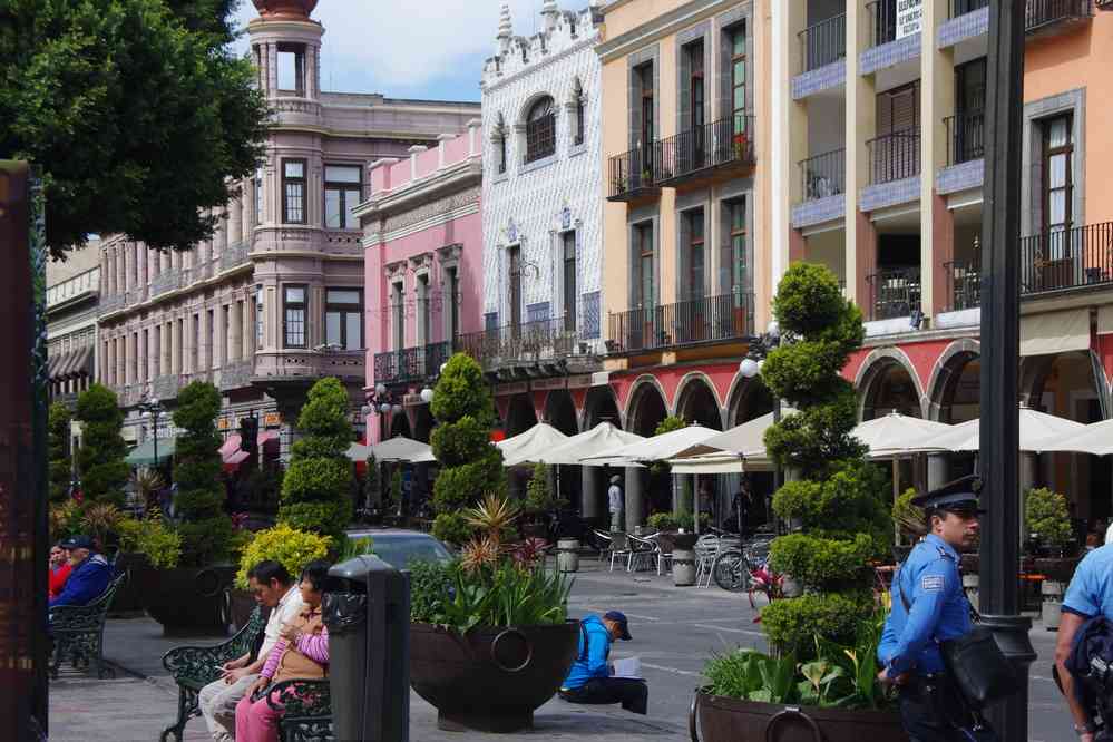
M842 711L739 701L695 692L689 713L693 742L908 742L896 711Z

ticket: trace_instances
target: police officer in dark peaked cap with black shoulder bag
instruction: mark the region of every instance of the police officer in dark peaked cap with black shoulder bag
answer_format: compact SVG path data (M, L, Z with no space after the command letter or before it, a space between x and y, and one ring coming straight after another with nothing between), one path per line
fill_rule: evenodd
M947 676L938 642L972 628L970 606L958 572L958 550L978 535L976 477L964 477L912 499L924 509L928 535L892 580L892 609L877 650L878 677L900 692L900 717L912 742L969 740L973 719Z

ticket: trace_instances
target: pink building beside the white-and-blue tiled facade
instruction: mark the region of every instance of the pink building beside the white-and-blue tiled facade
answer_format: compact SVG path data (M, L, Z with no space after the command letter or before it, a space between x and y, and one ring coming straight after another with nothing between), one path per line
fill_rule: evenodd
M428 441L421 391L460 338L482 330L480 121L370 167L363 226L368 439Z

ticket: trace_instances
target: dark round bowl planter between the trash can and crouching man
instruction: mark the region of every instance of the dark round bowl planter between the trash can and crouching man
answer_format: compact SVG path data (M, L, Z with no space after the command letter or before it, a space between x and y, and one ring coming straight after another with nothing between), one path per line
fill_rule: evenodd
M410 624L410 685L446 731L515 732L534 723L576 658L579 624L477 626L459 634Z

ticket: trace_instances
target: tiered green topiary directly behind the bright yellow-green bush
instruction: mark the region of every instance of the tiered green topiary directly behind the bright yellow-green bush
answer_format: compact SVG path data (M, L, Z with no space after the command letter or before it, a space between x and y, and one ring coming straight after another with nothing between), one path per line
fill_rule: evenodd
M352 519L349 404L339 379L321 379L310 389L297 418L303 438L293 446L279 505L279 523L330 536L334 546Z

